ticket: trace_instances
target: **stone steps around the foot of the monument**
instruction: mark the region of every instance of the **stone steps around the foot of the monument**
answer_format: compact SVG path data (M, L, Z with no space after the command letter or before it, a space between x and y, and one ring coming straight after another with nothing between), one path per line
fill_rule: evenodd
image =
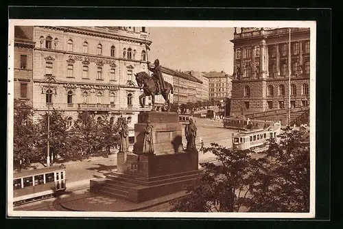
M191 184L200 176L202 170L174 173L167 176L137 177L123 173L105 173L106 178L101 185L91 189L93 193L130 200L132 190L158 190L163 195L182 191L185 185ZM148 192L147 192L148 193ZM146 196L146 200L150 199Z

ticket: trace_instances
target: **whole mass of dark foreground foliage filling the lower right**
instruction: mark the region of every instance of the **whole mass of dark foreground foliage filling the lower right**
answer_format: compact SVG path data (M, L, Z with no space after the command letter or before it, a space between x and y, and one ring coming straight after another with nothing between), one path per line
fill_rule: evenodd
M193 212L308 212L309 143L302 132L286 129L264 153L234 150L215 143L204 149L217 162L202 163L204 173L171 210Z

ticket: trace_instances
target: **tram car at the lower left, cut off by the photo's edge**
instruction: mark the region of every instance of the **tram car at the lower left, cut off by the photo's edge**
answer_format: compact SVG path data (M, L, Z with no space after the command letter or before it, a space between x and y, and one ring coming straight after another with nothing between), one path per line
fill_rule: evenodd
M66 189L66 168L46 167L13 174L14 206L42 200Z

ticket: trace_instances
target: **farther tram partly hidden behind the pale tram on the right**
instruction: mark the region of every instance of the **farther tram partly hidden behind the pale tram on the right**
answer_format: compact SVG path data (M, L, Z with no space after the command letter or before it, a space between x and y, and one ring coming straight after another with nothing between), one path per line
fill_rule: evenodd
M224 128L243 129L243 130L259 130L268 128L273 125L275 121L257 120L257 119L243 119L227 117L223 119Z

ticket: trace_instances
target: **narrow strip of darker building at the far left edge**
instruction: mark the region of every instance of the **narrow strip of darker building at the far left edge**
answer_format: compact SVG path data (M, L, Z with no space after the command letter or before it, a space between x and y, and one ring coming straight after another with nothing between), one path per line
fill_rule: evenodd
M33 105L33 53L34 29L30 26L14 26L14 99Z

